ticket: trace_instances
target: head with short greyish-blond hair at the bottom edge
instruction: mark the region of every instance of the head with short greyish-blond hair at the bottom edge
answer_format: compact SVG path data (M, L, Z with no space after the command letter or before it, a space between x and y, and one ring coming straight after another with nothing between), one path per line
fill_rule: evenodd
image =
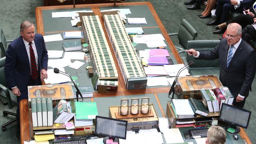
M226 132L220 126L211 126L207 132L205 144L225 144Z

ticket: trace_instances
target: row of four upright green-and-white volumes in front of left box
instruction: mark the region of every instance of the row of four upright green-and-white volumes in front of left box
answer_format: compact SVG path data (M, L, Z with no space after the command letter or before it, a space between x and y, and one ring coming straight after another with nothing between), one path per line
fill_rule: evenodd
M31 98L33 127L52 126L52 98Z

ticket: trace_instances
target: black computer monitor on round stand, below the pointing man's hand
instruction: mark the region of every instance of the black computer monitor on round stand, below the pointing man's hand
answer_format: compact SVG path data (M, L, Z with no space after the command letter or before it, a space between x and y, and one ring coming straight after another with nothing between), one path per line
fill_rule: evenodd
M239 127L247 129L251 113L251 111L223 103L219 120L230 124L225 127L229 133L239 133Z

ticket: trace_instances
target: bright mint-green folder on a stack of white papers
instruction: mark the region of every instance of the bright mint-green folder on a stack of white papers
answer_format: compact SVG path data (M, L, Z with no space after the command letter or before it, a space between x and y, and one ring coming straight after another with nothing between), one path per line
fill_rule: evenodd
M76 102L75 127L93 126L96 115L98 115L96 102Z

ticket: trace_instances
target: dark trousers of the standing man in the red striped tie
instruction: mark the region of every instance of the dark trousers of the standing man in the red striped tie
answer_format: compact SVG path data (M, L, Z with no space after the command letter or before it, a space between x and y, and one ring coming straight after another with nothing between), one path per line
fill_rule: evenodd
M38 77L37 79L34 80L30 76L30 80L29 80L28 86L30 86L30 85L41 85L41 79ZM26 90L28 90L28 89L26 89ZM17 103L18 103L17 111L16 111L16 114L17 114L16 115L16 118L17 118L17 133L20 133L20 100L22 100L20 98L20 96L17 96Z

